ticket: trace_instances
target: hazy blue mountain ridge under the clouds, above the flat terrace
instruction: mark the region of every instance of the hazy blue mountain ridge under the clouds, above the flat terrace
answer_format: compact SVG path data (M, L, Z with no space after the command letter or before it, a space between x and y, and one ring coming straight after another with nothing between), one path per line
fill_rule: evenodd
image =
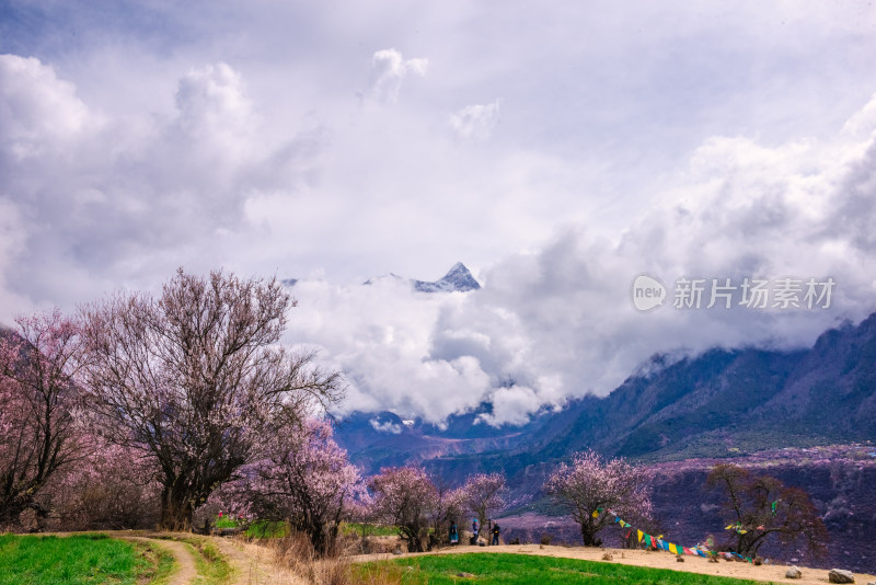
M876 438L876 313L826 331L807 349L655 356L609 395L572 400L522 426L480 422L491 408L440 427L391 412L354 413L337 440L367 472L424 463L457 479L494 469L514 477L585 448L656 462L865 441Z

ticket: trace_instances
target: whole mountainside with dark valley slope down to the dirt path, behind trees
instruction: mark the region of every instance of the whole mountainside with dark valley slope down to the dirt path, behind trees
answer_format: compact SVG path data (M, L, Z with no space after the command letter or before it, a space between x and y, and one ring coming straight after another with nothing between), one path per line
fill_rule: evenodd
M671 360L655 356L609 395L544 410L522 426L481 422L492 405L436 426L391 412L354 413L337 441L365 473L422 464L451 484L502 472L510 500L506 538L579 543L575 523L542 486L560 461L593 448L648 464L656 519L677 542L723 539L722 495L706 475L719 461L805 490L830 535L814 566L876 571L876 313L823 332L806 349L713 348ZM849 445L853 444L853 445ZM614 538L611 534L607 537ZM799 549L764 554L804 560Z

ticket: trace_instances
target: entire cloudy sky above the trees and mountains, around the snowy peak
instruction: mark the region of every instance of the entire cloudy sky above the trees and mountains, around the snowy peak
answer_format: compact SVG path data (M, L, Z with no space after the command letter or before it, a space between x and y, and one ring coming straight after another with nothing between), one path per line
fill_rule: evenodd
M805 347L876 310L873 55L856 1L2 0L0 322L298 278L342 411L436 423Z

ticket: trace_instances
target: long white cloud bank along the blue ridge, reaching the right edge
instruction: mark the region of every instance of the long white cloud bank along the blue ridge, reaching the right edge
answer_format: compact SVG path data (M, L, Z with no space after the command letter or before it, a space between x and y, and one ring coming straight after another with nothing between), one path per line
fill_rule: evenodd
M380 409L437 421L489 400L493 413L482 416L489 424L520 424L543 405L607 393L656 353L810 344L876 309L876 140L844 136L775 147L708 139L621 238L569 227L491 266L484 288L468 295L423 298L397 282L331 300L310 290L302 298L324 305L300 310L324 317L301 336L323 340L326 355L354 374L357 392ZM631 301L642 273L670 288L665 306L647 313ZM833 278L830 309L706 310L707 296L700 310L672 307L678 278L729 277L739 286L745 277L784 276ZM354 398L349 408L359 404Z

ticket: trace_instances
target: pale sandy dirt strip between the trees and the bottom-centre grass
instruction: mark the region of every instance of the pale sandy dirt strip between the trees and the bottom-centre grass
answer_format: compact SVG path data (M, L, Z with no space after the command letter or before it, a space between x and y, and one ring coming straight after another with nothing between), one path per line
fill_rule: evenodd
M710 563L707 559L700 557L684 557L684 562L680 563L673 554L668 552L650 552L644 550L621 550L621 549L586 549L583 547L542 547L541 544L510 544L502 547L453 547L441 549L436 553L403 554L403 557L415 557L422 554L459 554L465 552L486 552L486 553L518 553L518 554L539 554L544 557L561 557L565 559L584 559L586 561L602 561L602 555L610 552L613 563L631 564L636 566L647 566L652 569L670 569L672 571L684 571L685 573L700 573L703 575L719 575L723 577L748 578L752 581L772 583L796 583L800 585L822 585L828 583L828 571L825 569L807 569L802 566L803 578L785 578L785 571L788 565L760 565L754 566L750 563L721 561ZM371 560L397 559L395 554L361 554L351 557L353 562L364 562ZM838 569L842 569L841 566ZM855 573L855 583L866 584L876 582L876 576L863 573Z

